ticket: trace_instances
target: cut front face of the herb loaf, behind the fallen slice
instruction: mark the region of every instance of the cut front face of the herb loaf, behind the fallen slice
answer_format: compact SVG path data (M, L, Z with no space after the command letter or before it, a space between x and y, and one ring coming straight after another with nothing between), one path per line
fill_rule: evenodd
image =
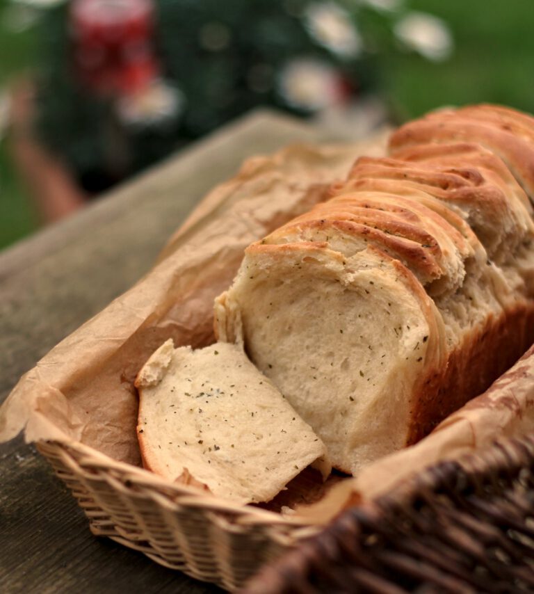
M354 474L405 445L423 369L446 363L441 317L414 275L375 248L347 257L324 244L253 244L216 302L220 339L243 339Z

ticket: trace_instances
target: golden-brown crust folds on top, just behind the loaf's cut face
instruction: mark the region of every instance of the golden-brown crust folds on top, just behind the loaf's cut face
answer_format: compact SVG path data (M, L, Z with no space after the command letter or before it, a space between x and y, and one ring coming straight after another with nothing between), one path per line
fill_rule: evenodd
M331 241L337 235L343 236L344 253L350 255L348 240L357 238L399 259L424 284L443 278L445 285L457 286L464 259L474 256L478 240L457 215L430 195L426 198L381 191L341 193L280 227L264 243L321 241L322 235Z

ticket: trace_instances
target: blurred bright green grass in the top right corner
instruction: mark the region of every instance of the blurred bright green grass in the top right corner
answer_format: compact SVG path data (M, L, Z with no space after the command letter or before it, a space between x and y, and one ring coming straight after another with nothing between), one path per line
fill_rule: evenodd
M386 92L398 120L439 105L492 102L534 113L534 2L412 0L410 7L442 17L456 50L433 64L397 54Z

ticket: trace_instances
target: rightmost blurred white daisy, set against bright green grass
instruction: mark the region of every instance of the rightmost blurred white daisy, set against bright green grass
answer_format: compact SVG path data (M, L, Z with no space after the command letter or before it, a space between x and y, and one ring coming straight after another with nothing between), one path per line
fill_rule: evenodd
M446 23L426 13L408 13L395 25L394 33L407 47L429 60L446 60L453 51L453 38Z

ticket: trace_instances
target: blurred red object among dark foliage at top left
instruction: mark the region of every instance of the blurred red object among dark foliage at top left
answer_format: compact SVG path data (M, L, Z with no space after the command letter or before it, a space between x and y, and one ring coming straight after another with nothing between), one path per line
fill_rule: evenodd
M73 0L76 77L99 95L145 88L159 73L151 0Z

